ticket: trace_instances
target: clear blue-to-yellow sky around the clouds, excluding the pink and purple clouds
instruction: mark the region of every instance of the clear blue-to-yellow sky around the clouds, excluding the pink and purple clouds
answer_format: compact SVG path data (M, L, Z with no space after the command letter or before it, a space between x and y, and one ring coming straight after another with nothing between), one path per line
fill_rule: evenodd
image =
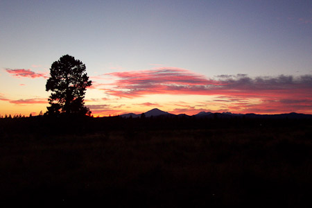
M0 102L8 105L0 114L12 108L12 114L26 114L26 103L8 101L49 96L44 78L18 78L6 69L49 75L52 62L65 54L83 61L90 77L157 67L186 69L207 79L312 74L311 1L1 1L0 28ZM95 81L114 79L106 75ZM94 106L121 104L103 89L89 91L86 98L106 98ZM153 102L140 102L155 103L149 99ZM123 103L136 105L133 99ZM167 104L159 105L174 112ZM45 111L43 103L37 105Z

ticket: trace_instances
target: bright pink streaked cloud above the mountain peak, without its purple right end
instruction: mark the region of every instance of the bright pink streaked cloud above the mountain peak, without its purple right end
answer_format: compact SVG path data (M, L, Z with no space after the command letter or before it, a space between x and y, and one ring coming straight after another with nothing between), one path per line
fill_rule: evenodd
M220 85L198 73L175 67L161 67L146 71L124 71L107 73L119 78L107 94L135 98L146 94L190 94L203 86ZM186 91L189 91L186 93Z

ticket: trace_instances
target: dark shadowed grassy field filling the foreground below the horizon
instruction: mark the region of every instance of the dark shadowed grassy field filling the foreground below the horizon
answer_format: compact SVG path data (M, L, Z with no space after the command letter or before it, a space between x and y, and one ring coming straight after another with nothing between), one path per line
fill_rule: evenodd
M69 123L0 120L1 198L114 207L312 205L311 120Z

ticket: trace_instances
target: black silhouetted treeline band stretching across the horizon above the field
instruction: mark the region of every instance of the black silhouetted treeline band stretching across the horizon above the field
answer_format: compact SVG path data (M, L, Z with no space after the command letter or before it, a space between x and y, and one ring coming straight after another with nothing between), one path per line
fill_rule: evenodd
M229 128L312 128L312 119L259 119L245 117L218 118L217 116L151 116L122 118L110 116L15 116L0 119L0 136L31 134L89 134L121 130L129 136L142 130L200 130Z

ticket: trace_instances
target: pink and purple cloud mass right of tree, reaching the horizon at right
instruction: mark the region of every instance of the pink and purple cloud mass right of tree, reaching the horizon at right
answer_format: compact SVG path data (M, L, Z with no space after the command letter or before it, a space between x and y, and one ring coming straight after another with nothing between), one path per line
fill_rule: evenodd
M153 94L215 96L207 106L234 112L311 112L312 75L220 75L206 78L187 69L162 67L144 71L108 73L117 78L107 94L137 98ZM197 109L197 108L196 108ZM195 110L189 108L192 112Z

